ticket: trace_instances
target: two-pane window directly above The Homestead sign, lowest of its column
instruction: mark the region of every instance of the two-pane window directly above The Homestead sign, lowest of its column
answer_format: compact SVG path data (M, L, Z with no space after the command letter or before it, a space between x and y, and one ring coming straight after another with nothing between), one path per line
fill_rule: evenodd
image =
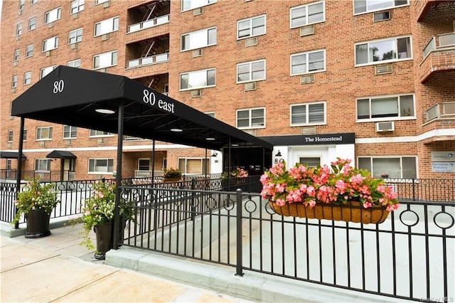
M291 105L291 126L325 123L325 102Z

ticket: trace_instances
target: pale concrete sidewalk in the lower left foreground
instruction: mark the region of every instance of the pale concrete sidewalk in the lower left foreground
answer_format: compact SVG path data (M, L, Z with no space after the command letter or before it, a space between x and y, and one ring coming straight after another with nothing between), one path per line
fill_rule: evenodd
M80 226L44 238L1 235L0 302L248 302L106 265L80 246Z

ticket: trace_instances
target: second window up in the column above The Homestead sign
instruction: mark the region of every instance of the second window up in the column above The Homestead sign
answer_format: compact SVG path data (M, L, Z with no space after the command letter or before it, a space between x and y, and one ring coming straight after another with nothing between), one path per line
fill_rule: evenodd
M318 73L326 70L326 50L291 55L291 75Z

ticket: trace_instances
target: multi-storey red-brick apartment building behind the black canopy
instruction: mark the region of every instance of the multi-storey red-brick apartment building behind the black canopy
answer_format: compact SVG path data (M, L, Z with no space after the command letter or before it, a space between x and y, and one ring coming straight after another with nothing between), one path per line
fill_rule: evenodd
M164 92L271 142L272 163L340 156L377 177L455 178L455 1L4 1L1 36L0 179L17 165L11 102L58 65ZM25 129L25 171L115 170L114 134ZM125 137L123 175L221 173L222 154Z

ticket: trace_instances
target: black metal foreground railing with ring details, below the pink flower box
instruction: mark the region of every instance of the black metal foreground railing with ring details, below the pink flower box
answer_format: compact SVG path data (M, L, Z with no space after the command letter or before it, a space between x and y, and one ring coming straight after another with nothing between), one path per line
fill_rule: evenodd
M129 187L122 187L125 200ZM119 244L387 297L455 297L455 204L403 201L381 224L279 216L256 193L141 188ZM237 207L241 206L241 207ZM127 207L122 203L120 207Z

